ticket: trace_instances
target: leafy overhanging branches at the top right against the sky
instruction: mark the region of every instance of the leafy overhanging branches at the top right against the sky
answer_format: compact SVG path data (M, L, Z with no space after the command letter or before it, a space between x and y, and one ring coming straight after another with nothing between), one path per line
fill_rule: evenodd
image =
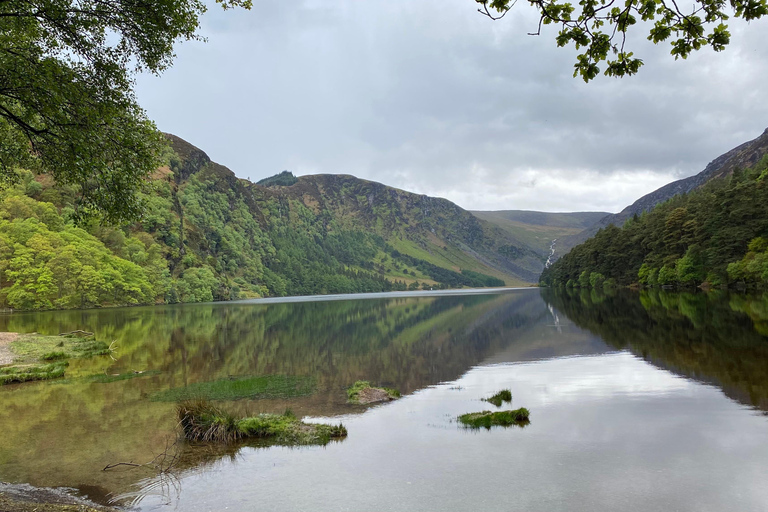
M517 0L476 0L480 12L499 19L509 12ZM689 8L677 0L580 0L578 5L561 0L528 0L539 13L542 25L559 25L557 45L573 44L583 49L574 64L573 76L585 82L607 67L608 76L634 75L643 61L626 47L627 34L638 22L648 28L648 40L669 41L671 53L687 58L691 52L709 46L724 50L730 43L726 21L731 16L752 21L768 15L766 0L694 0ZM637 29L632 29L637 30Z

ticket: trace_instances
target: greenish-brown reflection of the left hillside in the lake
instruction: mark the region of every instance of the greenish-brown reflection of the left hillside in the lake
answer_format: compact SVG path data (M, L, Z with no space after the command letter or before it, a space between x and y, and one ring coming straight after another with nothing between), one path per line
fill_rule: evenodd
M546 318L535 290L392 300L271 305L204 304L0 317L0 329L75 329L115 340L117 361L74 361L67 379L0 388L0 479L70 486L92 497L123 492L175 435L173 404L157 391L239 375L311 376L317 390L293 399L242 400L249 412L360 413L346 403L356 380L404 393L458 378ZM111 383L92 375L148 371ZM187 454L189 455L189 454ZM185 460L194 466L199 451ZM202 458L207 454L200 455Z

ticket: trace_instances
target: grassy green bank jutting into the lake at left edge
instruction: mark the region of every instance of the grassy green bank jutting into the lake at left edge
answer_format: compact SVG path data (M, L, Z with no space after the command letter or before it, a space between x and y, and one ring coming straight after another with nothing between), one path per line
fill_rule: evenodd
M22 334L10 345L13 363L0 367L0 385L63 377L69 359L110 353L93 336Z

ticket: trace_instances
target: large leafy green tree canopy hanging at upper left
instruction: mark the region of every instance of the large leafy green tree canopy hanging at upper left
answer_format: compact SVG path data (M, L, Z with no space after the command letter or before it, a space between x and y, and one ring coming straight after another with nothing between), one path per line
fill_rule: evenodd
M76 217L138 217L165 142L133 75L167 69L176 42L200 39L205 10L199 0L0 0L0 179L47 172L78 187Z

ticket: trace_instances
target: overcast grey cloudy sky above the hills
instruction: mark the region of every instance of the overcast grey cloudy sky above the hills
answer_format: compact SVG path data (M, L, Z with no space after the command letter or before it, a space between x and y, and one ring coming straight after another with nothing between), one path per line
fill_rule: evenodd
M619 211L768 127L768 21L685 61L638 34L639 75L585 84L523 3L211 7L139 102L241 178L352 174L479 210Z

